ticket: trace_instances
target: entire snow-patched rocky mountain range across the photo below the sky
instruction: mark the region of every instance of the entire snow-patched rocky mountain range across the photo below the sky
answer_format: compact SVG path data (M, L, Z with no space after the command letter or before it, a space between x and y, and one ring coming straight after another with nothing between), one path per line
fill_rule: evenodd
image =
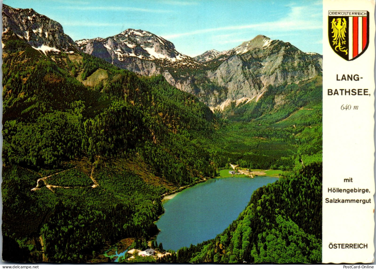
M213 49L191 58L145 30L127 29L107 38L73 42L58 22L33 9L3 5L3 35L8 31L45 54L84 52L137 74L161 74L213 111L232 102L258 101L269 86L299 83L322 73L321 55L263 35L230 50Z

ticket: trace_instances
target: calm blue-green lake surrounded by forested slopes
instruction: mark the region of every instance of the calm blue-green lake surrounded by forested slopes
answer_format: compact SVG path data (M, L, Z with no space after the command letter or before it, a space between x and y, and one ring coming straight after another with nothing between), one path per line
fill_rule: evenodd
M165 214L156 225L156 240L177 251L222 233L246 208L253 191L277 178L215 178L197 184L164 202Z

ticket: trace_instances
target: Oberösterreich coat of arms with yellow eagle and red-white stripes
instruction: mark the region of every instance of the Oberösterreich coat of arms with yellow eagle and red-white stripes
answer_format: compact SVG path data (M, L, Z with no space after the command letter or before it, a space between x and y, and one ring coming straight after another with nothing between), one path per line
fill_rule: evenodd
M368 11L329 11L329 43L339 56L352 61L369 43Z

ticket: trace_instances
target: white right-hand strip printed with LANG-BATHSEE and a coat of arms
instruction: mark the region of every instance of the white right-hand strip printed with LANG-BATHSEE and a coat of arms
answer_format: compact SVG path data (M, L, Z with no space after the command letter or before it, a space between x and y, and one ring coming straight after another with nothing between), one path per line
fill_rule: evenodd
M323 55L326 55L323 60L323 262L370 263L374 253L374 2L324 1L323 9L327 12L323 16L323 36L329 39L323 42ZM362 59L367 53L369 58ZM355 171L359 174L352 176Z

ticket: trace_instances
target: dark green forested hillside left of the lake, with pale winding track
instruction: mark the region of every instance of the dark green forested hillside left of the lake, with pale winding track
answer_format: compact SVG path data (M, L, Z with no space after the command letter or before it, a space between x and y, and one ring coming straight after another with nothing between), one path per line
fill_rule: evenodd
M192 142L210 139L214 116L194 96L89 55L3 43L4 260L88 261L106 242L149 238L162 193L215 174ZM74 77L98 68L108 78L95 87Z

